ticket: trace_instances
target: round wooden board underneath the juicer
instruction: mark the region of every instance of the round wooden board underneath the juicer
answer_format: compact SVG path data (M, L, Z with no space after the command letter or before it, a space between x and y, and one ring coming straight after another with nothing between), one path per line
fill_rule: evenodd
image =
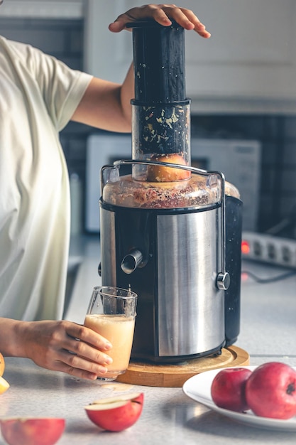
M119 377L117 382L132 385L156 387L182 387L193 375L226 366L247 366L250 364L250 355L231 345L221 350L221 355L201 357L178 363L177 365L157 365L131 361L128 370Z

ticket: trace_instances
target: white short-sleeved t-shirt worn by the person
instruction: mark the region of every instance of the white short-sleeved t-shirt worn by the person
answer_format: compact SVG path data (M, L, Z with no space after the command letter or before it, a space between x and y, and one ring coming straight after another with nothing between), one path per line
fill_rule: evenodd
M92 76L0 37L0 316L62 317L70 238L58 132Z

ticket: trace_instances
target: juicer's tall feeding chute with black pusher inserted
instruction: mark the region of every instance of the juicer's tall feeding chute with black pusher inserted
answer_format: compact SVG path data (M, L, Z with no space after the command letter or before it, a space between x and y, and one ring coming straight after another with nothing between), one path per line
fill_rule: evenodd
M184 28L173 22L164 27L155 21L131 23L135 98L132 104L132 159L168 161L190 165L190 99L185 91ZM175 181L157 176L157 168L133 166L133 178ZM177 173L177 174L176 174ZM182 177L184 178L184 177Z

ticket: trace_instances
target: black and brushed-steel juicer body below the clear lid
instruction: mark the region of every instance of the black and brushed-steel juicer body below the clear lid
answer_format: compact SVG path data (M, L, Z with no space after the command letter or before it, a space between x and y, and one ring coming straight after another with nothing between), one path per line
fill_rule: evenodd
M236 226L240 202L232 200ZM219 205L138 209L101 199L100 218L102 284L131 286L138 294L132 358L175 363L219 353L237 338L240 275L230 273L236 280L233 294L216 286L222 254ZM238 229L226 235L240 236ZM228 243L237 246L233 238ZM121 265L129 252L141 252L141 262L126 273ZM240 254L230 262L240 262Z

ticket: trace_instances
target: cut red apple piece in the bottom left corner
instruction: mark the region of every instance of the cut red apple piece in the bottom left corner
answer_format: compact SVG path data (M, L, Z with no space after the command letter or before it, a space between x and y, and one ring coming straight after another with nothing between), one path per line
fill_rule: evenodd
M65 419L11 417L1 419L1 433L9 445L53 445L65 429Z

